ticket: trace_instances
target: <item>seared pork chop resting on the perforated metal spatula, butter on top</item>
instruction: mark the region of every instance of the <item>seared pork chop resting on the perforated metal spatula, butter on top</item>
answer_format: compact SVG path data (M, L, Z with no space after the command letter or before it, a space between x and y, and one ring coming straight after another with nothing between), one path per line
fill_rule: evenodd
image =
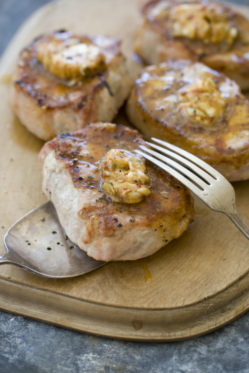
M71 241L96 260L149 256L193 218L189 190L134 153L140 144L135 130L94 123L40 152L44 193Z

